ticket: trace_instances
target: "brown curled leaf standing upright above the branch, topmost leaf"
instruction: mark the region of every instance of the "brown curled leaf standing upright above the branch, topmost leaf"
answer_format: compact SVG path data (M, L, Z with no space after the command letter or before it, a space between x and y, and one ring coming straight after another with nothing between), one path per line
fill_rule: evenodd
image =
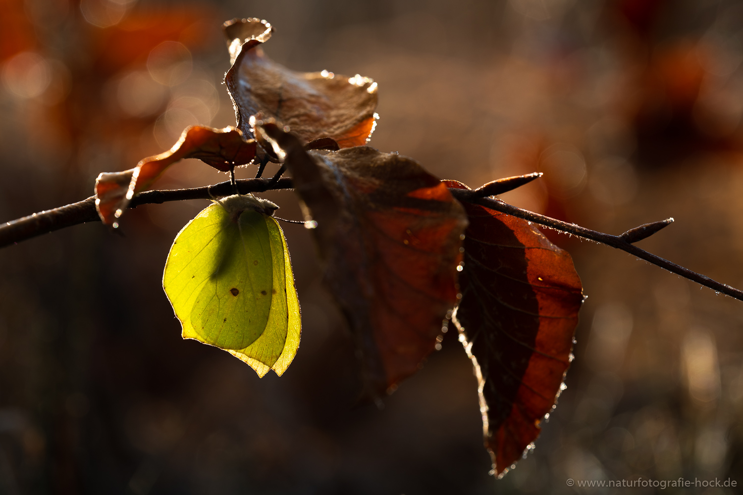
M250 117L260 115L290 126L302 142L331 137L340 148L366 144L374 131L377 83L359 75L291 71L259 47L272 31L259 19L224 23L233 64L224 81L238 128L253 137Z

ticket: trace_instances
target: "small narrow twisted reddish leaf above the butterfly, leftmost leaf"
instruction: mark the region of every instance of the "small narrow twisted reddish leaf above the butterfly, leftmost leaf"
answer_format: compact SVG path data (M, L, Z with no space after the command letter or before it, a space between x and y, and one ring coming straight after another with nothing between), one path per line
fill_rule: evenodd
M100 174L95 184L98 215L106 225L117 227L116 219L126 210L134 194L149 188L178 160L198 158L217 170L230 171L236 165L250 163L255 156L255 140L244 140L239 129L192 125L169 151L144 158L135 168Z

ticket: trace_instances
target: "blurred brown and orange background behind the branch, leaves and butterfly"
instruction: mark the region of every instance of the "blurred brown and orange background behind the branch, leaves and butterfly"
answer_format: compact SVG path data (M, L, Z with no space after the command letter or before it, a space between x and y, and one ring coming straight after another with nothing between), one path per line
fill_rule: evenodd
M735 0L0 0L0 220L92 194L190 124L234 124L220 24L276 27L299 71L379 84L371 145L743 286L743 4ZM239 171L251 177L253 168ZM160 188L225 180L174 166ZM299 218L290 192L266 194ZM140 206L0 251L0 494L642 494L572 479L743 484L743 303L546 234L588 300L536 450L488 476L449 332L378 410L305 229L286 224L302 344L281 378L183 341L160 287L205 201ZM661 493L732 494L721 488Z

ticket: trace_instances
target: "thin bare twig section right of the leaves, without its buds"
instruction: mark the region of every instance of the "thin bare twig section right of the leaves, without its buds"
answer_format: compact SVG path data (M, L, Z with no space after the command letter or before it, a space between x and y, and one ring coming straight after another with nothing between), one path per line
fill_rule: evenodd
M743 301L743 291L731 287L727 284L714 281L713 279L701 275L697 272L692 272L690 269L679 266L676 263L672 263L669 260L661 258L660 256L653 255L650 252L640 249L634 246L622 237L618 235L603 234L602 232L596 232L595 230L586 229L585 227L577 226L574 223L562 222L555 220L551 217L545 217L545 215L530 212L525 209L521 209L517 206L504 203L501 200L493 199L492 197L477 197L475 191L468 189L450 189L452 195L460 201L467 201L467 203L475 203L480 206L496 210L496 212L507 213L514 217L523 218L533 223L539 223L539 225L550 227L551 229L559 230L568 234L583 237L584 239L594 240L597 243L606 244L616 249L629 252L631 255L637 256L643 260L649 261L650 263L660 266L668 270L669 272L681 275L684 278L688 278L690 281L701 283L705 287L715 290L716 292L722 292L723 294L729 295L731 298L736 298L739 301ZM665 221L665 220L664 220ZM669 222L670 223L670 222Z

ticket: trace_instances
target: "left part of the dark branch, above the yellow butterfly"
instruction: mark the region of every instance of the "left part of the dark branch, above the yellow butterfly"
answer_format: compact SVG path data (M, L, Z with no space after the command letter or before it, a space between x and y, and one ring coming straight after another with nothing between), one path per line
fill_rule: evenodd
M279 179L271 183L270 179L238 180L237 187L241 194L263 192L275 189L291 189L291 179ZM194 189L172 189L170 191L145 191L132 198L129 208L146 203L165 203L166 201L209 200L212 197L233 194L230 181L214 186ZM95 209L95 196L86 200L60 206L59 208L34 213L27 217L0 225L0 248L19 243L38 235L71 227L78 223L100 222Z

